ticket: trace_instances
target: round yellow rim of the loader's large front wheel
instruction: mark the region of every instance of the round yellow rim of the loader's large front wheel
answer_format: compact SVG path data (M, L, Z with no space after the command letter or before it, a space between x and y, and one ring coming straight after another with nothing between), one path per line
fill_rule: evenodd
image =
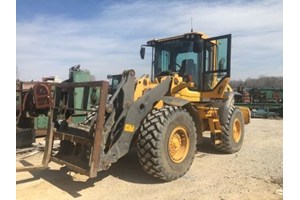
M190 141L185 128L176 127L172 131L168 147L168 153L173 162L180 163L186 158L190 147Z

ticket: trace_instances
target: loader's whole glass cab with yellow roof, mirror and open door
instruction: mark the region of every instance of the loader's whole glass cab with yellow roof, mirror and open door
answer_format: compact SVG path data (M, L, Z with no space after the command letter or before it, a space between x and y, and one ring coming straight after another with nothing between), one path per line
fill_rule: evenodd
M209 38L191 32L180 36L151 40L153 48L152 78L178 73L186 82L194 82L195 90L213 90L230 77L231 35ZM141 49L141 57L145 49Z

